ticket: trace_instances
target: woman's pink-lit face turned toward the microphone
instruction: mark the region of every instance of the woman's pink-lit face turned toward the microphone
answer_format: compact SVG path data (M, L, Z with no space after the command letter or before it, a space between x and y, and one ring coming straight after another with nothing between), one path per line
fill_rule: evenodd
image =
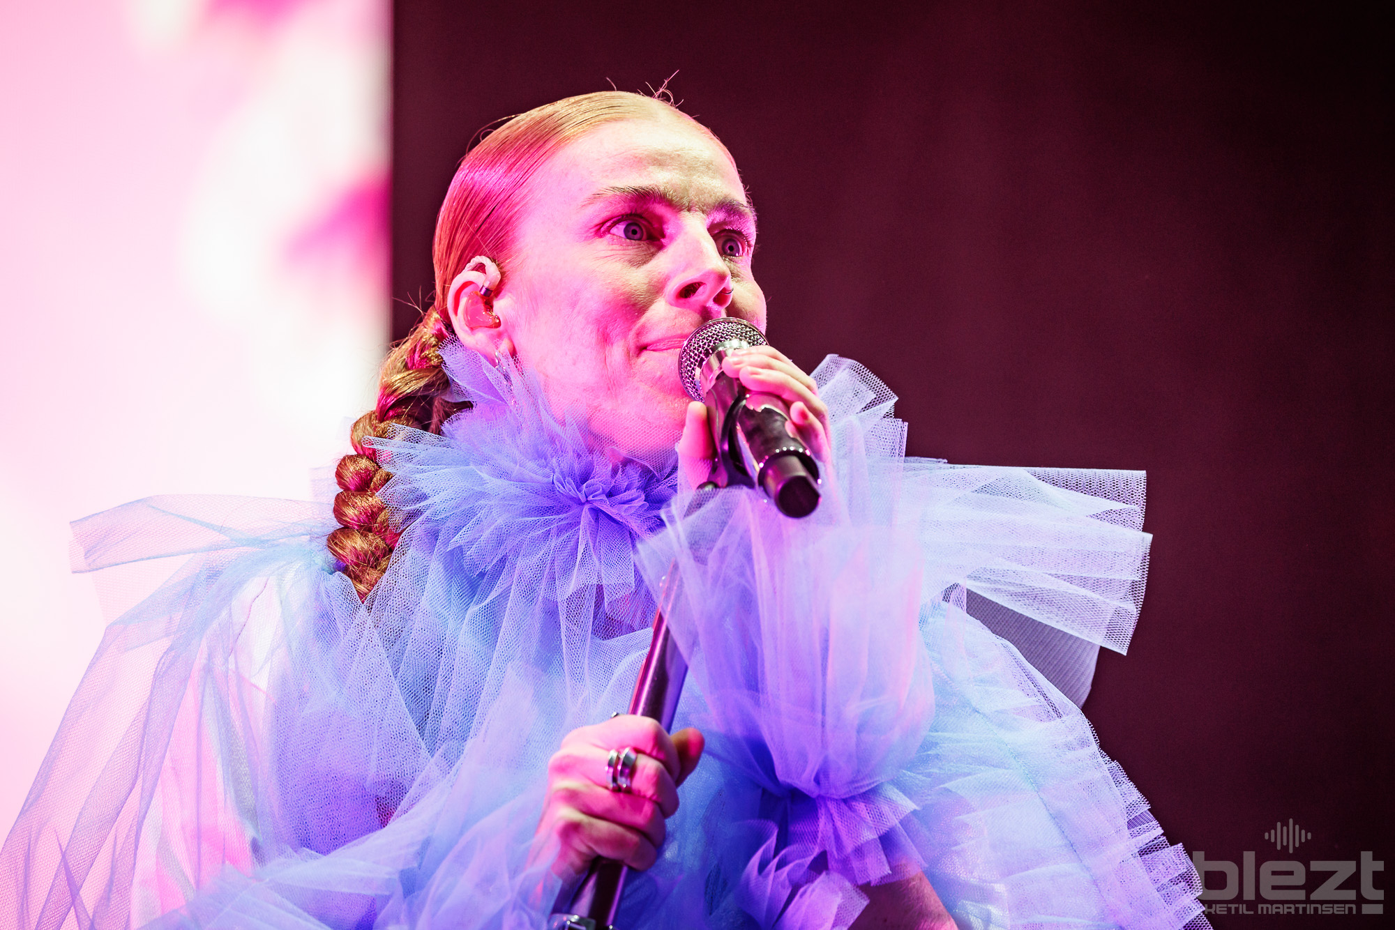
M721 315L766 326L755 241L737 166L707 134L667 116L604 124L530 181L491 335L601 442L672 448L684 339Z

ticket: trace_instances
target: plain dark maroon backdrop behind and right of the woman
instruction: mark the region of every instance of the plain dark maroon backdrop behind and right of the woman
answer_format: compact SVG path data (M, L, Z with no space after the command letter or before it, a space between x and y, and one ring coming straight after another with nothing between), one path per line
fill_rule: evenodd
M481 125L678 71L795 361L872 367L917 455L1148 471L1148 600L1085 710L1169 835L1286 859L1292 817L1293 857L1395 869L1377 7L661 6L396 3L393 296Z

